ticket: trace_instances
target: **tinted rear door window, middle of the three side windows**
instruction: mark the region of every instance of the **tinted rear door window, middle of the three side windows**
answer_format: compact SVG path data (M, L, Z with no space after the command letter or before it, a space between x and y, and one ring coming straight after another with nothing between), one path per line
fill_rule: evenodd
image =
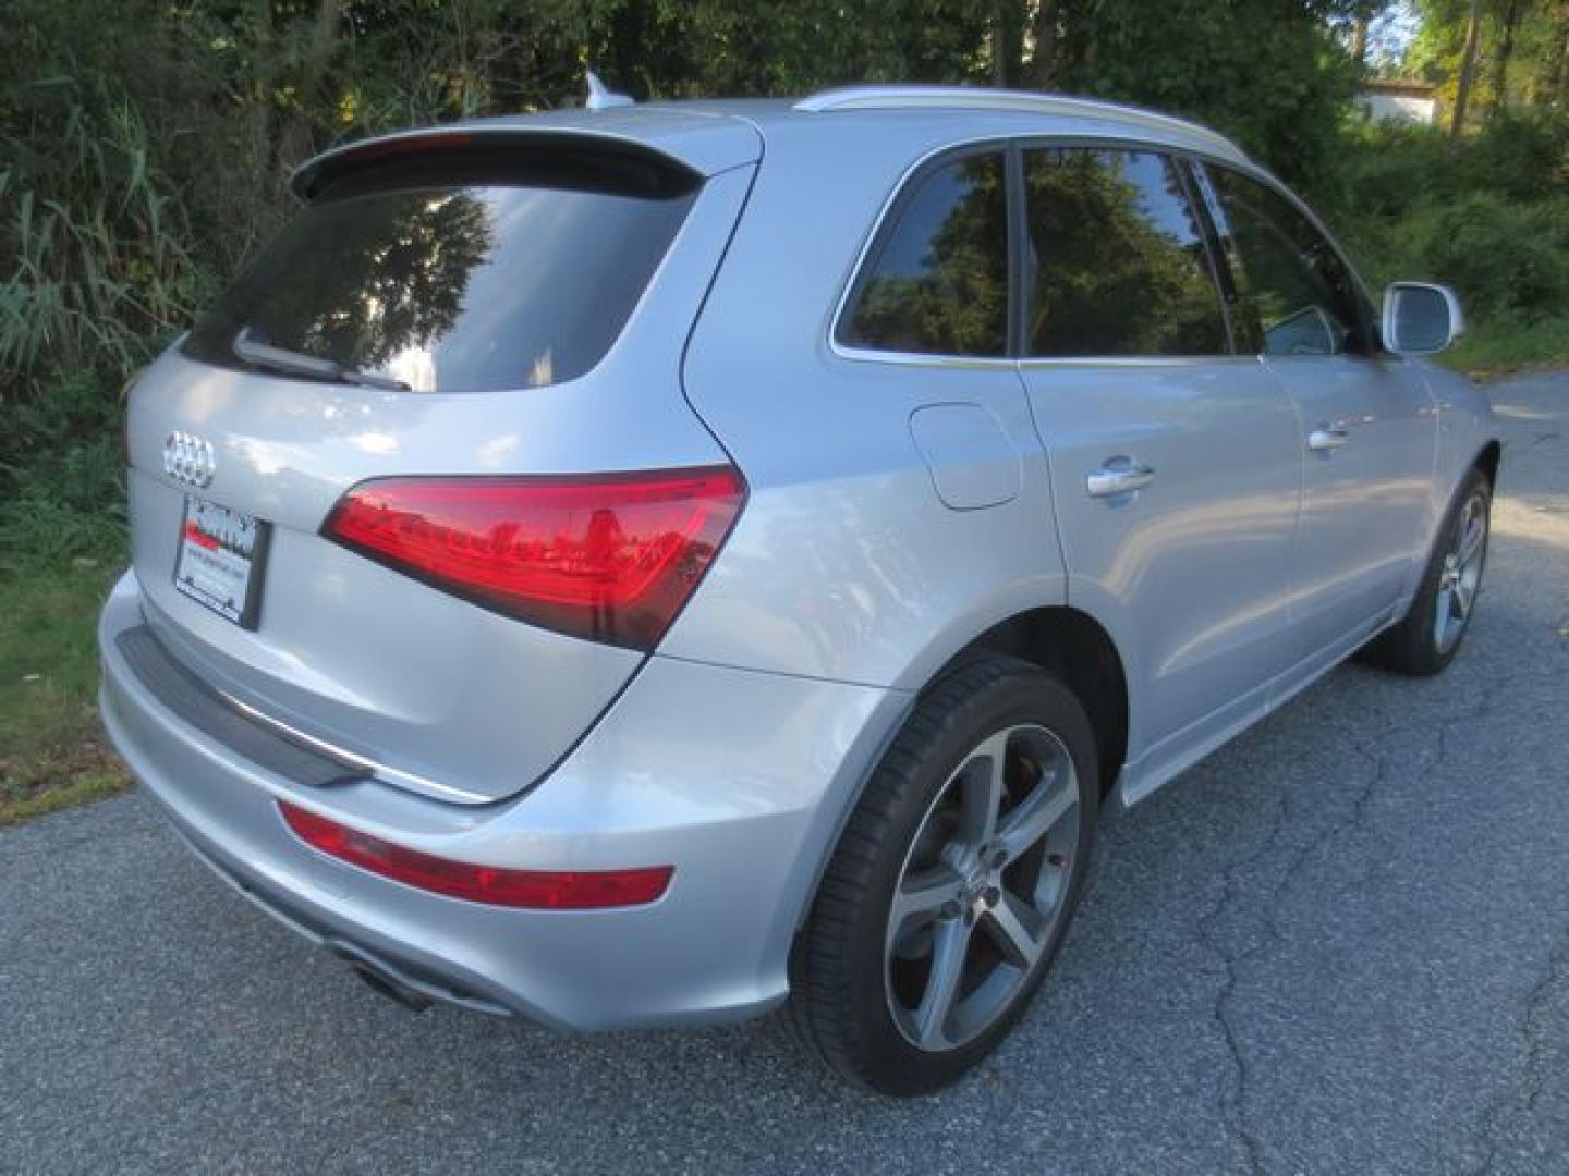
M1153 152L1025 154L1032 356L1225 354L1203 232L1175 165Z

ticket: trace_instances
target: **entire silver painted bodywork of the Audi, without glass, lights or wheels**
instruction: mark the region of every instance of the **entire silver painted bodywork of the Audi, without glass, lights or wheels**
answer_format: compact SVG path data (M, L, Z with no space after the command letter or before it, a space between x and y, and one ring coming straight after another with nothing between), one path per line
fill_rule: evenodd
M102 618L104 717L180 831L264 905L549 1024L783 999L819 872L916 691L1018 613L1073 608L1111 635L1131 724L1119 797L1149 795L1401 615L1495 436L1486 398L1423 361L1020 364L830 343L883 210L934 154L1014 138L1219 152L1207 132L1114 108L775 102L494 129L637 141L708 177L621 339L576 381L466 397L165 356L130 397L135 564ZM1320 419L1352 433L1327 459L1305 444ZM213 447L202 494L275 525L254 633L173 591L174 431ZM1089 495L1116 456L1147 463L1150 485ZM504 619L319 536L367 477L726 459L747 506L653 655ZM308 790L217 745L118 655L137 624L378 778ZM461 861L673 864L675 881L618 911L441 898L308 850L281 797Z

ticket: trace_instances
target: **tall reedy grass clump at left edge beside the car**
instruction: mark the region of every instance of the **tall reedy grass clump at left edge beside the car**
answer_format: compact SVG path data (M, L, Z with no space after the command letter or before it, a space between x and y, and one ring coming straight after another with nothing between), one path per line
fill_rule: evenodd
M124 549L119 389L207 285L135 108L30 97L0 129L0 575Z

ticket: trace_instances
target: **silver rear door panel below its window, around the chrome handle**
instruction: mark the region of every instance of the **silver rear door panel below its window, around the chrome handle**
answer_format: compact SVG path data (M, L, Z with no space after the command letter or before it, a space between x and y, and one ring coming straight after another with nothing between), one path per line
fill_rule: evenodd
M1180 754L1290 663L1296 409L1257 359L1025 367L1068 602L1141 684L1128 756ZM1150 485L1090 497L1090 472L1119 458Z

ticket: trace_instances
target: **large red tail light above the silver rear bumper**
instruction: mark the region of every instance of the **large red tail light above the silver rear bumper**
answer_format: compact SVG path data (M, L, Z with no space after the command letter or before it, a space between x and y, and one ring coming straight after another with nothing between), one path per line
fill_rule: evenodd
M592 477L378 478L323 533L494 612L651 649L745 500L730 466Z

